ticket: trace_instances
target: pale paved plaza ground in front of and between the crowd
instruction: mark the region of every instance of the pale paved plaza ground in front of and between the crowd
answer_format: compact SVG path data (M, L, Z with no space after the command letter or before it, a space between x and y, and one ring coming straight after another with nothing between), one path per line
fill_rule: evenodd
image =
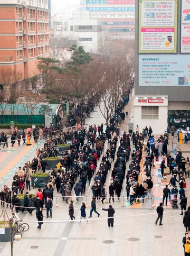
M129 101L129 112L131 111L132 97ZM86 123L88 125L101 124L103 118L98 107L95 107L91 118L88 118ZM128 118L122 123L120 131L128 130ZM147 124L148 126L149 124ZM171 142L171 141L169 141ZM40 143L40 142L39 142ZM41 147L44 141L41 142ZM0 151L0 185L4 184L11 186L14 172L19 166L35 156L35 150L38 145L32 143L31 147L15 145L14 149L1 149ZM180 146L181 147L181 146ZM185 148L184 148L185 147ZM182 145L182 152L185 152L185 157L189 156L190 144ZM170 150L172 144L169 145ZM128 165L127 165L128 167ZM106 191L110 184L111 171L108 173L106 180ZM159 186L156 177L154 177L154 204L158 205L162 202L162 191L164 184ZM186 196L190 194L190 179L186 180ZM37 189L32 189L31 193L36 194ZM74 195L74 192L72 192ZM60 194L59 194L60 195ZM54 198L56 194L54 193ZM74 203L75 221L71 221L68 212L68 204L63 202L62 198L58 197L59 207L55 207L56 198L53 202L52 214L53 217L46 219L46 212L44 211L44 224L42 230L37 230L37 219L35 211L33 216L29 213L20 213L20 217L24 222L30 224L29 231L23 234L21 241L14 241L14 254L16 256L30 256L30 255L54 255L54 256L90 256L90 255L109 255L109 256L182 256L184 255L182 247L182 238L185 233L183 226L183 216L179 215L179 209L172 209L170 205L164 207L163 226L155 226L157 217L156 208L148 209L148 200L145 199L145 204L135 204L131 206L126 197L125 187L121 191L120 202L117 198L116 202L112 204L115 209L114 227L108 228L107 212L100 208L107 208L109 204L103 205L97 202L97 211L100 217L93 213L92 218L87 223L85 220L79 224L80 220L80 206L81 203L91 203L92 190L87 185L86 194L79 199L79 203ZM124 199L123 199L124 198ZM124 207L121 207L124 204ZM87 216L90 214L90 208L86 209ZM11 216L10 209L7 208L8 216ZM0 255L11 255L11 244L0 243Z

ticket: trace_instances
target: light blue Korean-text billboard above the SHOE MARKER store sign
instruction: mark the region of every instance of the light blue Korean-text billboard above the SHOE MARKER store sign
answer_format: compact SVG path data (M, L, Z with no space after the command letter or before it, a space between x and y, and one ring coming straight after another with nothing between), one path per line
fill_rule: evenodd
M139 86L190 86L189 56L140 54Z

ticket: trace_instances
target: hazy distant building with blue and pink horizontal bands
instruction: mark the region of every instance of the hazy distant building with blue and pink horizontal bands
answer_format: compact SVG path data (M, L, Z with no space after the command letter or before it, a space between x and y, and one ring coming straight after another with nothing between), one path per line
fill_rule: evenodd
M135 0L81 0L80 6L101 19L109 40L135 38Z

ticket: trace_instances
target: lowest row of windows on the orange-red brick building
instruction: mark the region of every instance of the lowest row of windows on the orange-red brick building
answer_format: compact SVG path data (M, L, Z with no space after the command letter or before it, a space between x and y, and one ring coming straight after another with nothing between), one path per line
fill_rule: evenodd
M37 56L46 54L48 52L49 52L49 45L28 49L28 55L30 56L30 58L35 58ZM16 57L19 58L19 60L24 60L23 50L17 50Z

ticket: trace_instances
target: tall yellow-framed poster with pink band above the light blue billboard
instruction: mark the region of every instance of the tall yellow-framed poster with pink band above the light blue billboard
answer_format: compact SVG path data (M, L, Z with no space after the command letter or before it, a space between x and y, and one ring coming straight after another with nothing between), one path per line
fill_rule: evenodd
M139 1L139 53L176 53L177 0Z

